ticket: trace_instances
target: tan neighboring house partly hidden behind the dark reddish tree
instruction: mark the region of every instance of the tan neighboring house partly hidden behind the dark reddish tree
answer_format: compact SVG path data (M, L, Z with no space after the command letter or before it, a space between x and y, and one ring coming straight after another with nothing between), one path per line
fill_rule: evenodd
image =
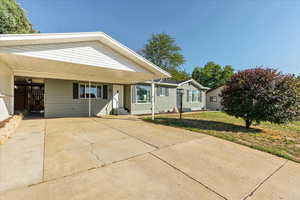
M224 85L210 89L206 92L206 107L208 110L222 110L220 94L222 90L224 89Z

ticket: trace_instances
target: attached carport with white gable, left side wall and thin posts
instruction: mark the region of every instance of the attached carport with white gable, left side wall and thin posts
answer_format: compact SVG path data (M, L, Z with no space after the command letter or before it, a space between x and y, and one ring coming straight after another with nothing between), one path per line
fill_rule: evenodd
M124 92L116 90L113 93L114 87L170 77L167 72L102 32L1 35L0 68L0 106L5 108L1 109L0 120L14 113L15 77L84 83L89 93L89 116L94 114L91 110L93 84L108 85L112 93L110 100L113 101L115 95ZM60 86L65 84L57 83ZM55 90L63 90L60 86ZM154 89L154 83L152 86ZM68 103L59 102L67 97L58 93L55 96L57 102L52 104L67 106ZM48 96L45 100L53 99L50 92L47 95L47 83L45 95ZM154 113L154 109L152 111Z

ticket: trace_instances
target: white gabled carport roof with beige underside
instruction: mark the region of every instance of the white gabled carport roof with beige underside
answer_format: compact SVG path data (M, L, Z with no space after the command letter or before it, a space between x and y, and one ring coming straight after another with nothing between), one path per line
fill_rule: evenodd
M35 52L32 49L25 49L26 54L23 53L23 48L16 48L14 47L35 47L37 46L45 46L45 45L53 45L56 44L74 44L74 43L100 43L101 45L105 46L109 51L118 54L122 58L128 60L128 62L124 62L128 65L128 69L122 69L112 66L101 66L93 64L86 64L86 63L76 63L70 60L66 62L62 62L62 60L56 60L55 58L49 60L45 57L38 57L36 55L32 55L32 52ZM99 45L100 45L99 44ZM104 48L104 47L103 47ZM40 49L38 49L40 50ZM44 49L42 49L44 50ZM53 50L53 49L51 49ZM22 51L22 52L20 52ZM29 53L28 53L29 52ZM44 51L45 52L45 51ZM44 53L43 52L43 53ZM2 54L2 55L1 55ZM110 54L107 54L110 56ZM107 56L106 55L106 56ZM89 79L91 81L101 81L103 82L112 82L112 83L133 83L133 82L140 82L146 81L151 79L159 79L159 78L169 78L170 74L158 66L154 65L150 61L146 60L142 56L138 55L136 52L132 51L128 47L122 45L118 41L114 40L110 36L106 35L103 32L85 32L85 33L41 33L41 34L3 34L0 35L0 56L3 62L7 65L11 65L15 67L17 65L22 66L22 73L20 72L20 68L15 69L16 75L30 75L31 72L33 77L41 77L44 76L42 73L34 73L36 71L44 70L43 73L49 74L49 77L46 76L45 78L55 78L55 69L51 69L50 71L46 72L46 69L41 69L39 66L49 66L49 69L53 65L58 66L57 68L60 70L65 70L64 68L68 68L68 71L62 71L62 74L65 73L64 76L58 77L62 79ZM113 58L114 59L114 58ZM84 61L84 60L83 60ZM117 60L119 62L119 60ZM35 64L36 63L36 64ZM124 64L120 62L121 64ZM129 64L128 64L129 63ZM32 67L31 65L36 65L36 67ZM80 65L80 66L79 66ZM87 71L86 74L82 72L82 76L80 73L72 75L75 70L70 70L74 66L74 69L77 71ZM83 68L85 66L85 68ZM90 66L87 68L86 66ZM25 69L25 70L24 70ZM30 70L31 71L30 71ZM29 71L28 71L29 70ZM25 73L27 71L28 73ZM102 74L102 78L99 80L96 77L97 71L99 74ZM24 73L23 73L24 72ZM52 75L51 75L52 74ZM98 75L99 75L98 74ZM110 77L110 78L109 78Z

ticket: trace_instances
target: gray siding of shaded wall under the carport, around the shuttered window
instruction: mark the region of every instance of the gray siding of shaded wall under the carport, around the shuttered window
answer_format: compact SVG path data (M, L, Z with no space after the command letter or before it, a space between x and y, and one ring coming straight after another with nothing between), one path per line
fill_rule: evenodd
M45 80L45 117L88 116L88 99L73 99L74 82L76 81ZM108 85L108 99L91 100L92 115L106 115L111 113L111 91L112 85Z

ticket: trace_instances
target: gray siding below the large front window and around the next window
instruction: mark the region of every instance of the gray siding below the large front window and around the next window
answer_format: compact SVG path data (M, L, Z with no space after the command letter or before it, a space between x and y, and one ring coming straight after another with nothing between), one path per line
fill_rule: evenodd
M169 88L169 96L157 96L157 86L155 86L154 99L156 113L171 112L176 107L176 87L163 87ZM131 100L130 113L133 115L149 114L151 113L151 103L135 103Z

